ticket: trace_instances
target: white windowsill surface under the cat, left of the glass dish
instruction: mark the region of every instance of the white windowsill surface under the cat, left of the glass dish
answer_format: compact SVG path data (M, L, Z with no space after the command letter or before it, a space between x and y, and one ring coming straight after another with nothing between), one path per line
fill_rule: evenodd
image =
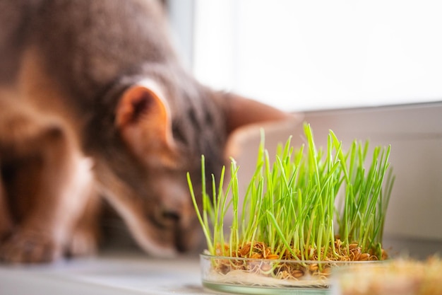
M111 253L53 265L0 265L1 295L206 294L199 258ZM213 294L213 293L211 293Z

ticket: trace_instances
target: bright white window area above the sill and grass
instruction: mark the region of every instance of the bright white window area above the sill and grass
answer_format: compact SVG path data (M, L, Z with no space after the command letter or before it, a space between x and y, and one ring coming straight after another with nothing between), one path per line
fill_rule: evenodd
M285 110L442 98L438 0L195 0L199 80Z

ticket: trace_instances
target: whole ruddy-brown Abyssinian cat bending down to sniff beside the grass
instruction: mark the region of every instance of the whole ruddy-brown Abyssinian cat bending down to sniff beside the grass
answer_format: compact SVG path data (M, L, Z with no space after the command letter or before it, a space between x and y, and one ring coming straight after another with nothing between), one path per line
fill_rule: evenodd
M101 196L146 252L191 249L186 173L204 154L216 175L239 127L292 117L193 79L153 0L0 0L0 60L4 262L93 252Z

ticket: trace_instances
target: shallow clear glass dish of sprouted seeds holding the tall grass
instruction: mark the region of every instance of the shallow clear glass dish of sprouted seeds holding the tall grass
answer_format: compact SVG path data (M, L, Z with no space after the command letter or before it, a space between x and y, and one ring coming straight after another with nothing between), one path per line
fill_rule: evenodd
M378 261L232 258L201 254L203 287L237 294L331 294L335 267Z

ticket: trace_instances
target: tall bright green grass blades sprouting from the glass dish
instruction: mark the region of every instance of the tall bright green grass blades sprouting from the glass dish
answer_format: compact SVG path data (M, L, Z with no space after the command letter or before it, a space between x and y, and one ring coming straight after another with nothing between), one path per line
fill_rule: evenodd
M307 124L304 134L305 145L294 149L289 138L278 146L275 158L270 158L262 135L244 196L239 196L239 167L233 159L228 183L225 168L220 180L212 176L212 192L206 192L203 183L202 208L188 174L210 254L251 257L258 251L265 256L253 247L261 243L267 255L285 259L358 260L361 253L382 259L383 226L394 183L390 146L376 146L365 167L369 141L354 140L343 151L342 142L330 131L326 149L316 149ZM205 180L204 156L201 160ZM233 216L229 228L228 212Z

